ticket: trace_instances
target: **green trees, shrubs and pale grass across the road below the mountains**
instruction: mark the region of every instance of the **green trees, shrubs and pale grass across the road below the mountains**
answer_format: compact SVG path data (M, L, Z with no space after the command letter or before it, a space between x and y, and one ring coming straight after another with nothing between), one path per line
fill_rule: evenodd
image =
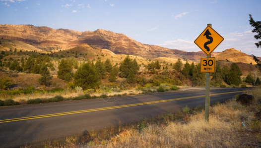
M129 55L121 57L120 61L110 60L103 53L90 60L87 55L71 50L50 54L16 48L2 50L0 106L164 92L205 85L205 74L200 72L200 64L194 62L183 64L181 59L175 63L142 61ZM211 74L211 87L253 85L261 85L260 78L255 79L252 73L242 76L236 63L217 64L216 72ZM58 97L60 99L54 99Z

